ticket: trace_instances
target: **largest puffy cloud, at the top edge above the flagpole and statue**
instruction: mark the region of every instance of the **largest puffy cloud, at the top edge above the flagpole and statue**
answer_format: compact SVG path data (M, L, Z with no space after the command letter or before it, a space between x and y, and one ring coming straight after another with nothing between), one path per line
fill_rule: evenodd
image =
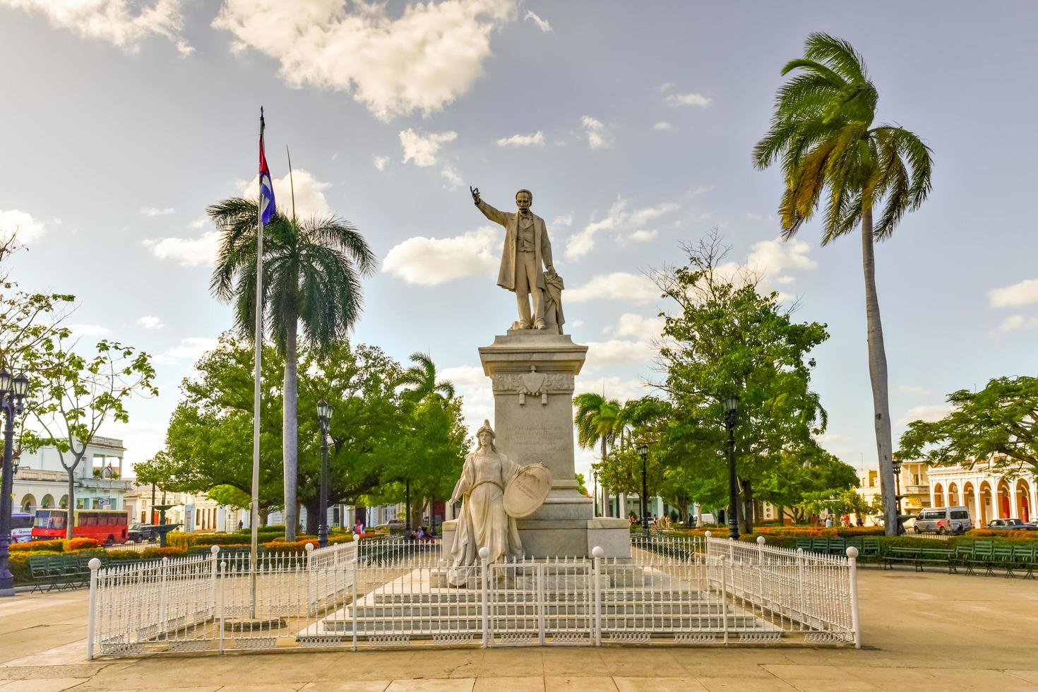
M376 117L428 115L471 88L490 36L515 15L515 0L405 5L344 0L225 0L213 22L280 62L290 86L352 92Z

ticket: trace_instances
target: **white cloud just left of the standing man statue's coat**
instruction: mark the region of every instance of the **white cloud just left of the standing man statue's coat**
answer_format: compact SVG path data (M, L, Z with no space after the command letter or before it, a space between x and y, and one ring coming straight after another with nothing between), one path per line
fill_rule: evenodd
M426 286L490 276L500 262L500 231L490 226L453 238L409 238L386 253L382 271Z

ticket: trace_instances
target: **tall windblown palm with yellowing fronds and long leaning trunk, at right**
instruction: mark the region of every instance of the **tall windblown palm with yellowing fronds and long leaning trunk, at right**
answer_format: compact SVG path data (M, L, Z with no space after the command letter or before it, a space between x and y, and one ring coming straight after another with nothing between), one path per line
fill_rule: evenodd
M782 166L786 191L778 213L786 240L813 216L823 194L822 245L861 224L876 451L886 533L893 535L897 504L873 243L889 239L905 213L926 199L931 150L904 128L873 124L879 94L862 56L846 40L811 34L803 58L783 67L783 75L790 73L775 96L771 129L754 148L754 163L760 169ZM877 207L882 211L874 221Z

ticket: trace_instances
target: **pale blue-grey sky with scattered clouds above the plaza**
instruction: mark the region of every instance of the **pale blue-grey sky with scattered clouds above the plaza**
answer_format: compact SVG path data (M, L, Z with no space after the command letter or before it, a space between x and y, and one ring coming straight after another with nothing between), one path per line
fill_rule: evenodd
M0 0L0 229L23 287L75 294L69 324L155 357L161 393L103 435L143 461L180 383L230 328L209 293L208 204L255 194L260 107L277 202L334 213L380 258L353 338L422 351L492 418L476 349L515 319L495 285L502 210L534 192L590 348L577 391L652 392L667 306L645 273L712 228L729 259L828 325L823 444L876 464L861 245L778 239L777 170L750 149L812 31L866 57L879 119L934 151L933 192L876 250L895 438L945 396L1034 375L1038 234L1032 2ZM1031 142L1031 143L1029 143ZM473 427L474 430L474 427ZM578 450L577 471L593 461Z

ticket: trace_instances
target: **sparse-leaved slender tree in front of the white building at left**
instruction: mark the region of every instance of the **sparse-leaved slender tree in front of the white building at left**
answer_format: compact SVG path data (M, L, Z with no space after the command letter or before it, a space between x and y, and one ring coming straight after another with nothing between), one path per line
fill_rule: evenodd
M69 508L76 507L76 469L106 422L130 422L128 402L157 396L151 357L133 347L102 339L81 356L63 338L49 338L27 354L33 428L24 430L29 450L54 447L69 480ZM73 537L73 522L66 537Z

